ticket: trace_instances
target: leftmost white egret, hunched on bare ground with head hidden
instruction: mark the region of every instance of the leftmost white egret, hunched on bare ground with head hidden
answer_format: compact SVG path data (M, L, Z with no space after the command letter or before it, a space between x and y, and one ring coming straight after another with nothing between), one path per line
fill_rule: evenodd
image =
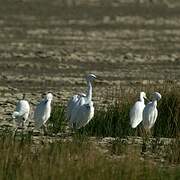
M27 123L30 112L30 105L27 100L25 100L25 94L23 94L23 99L21 99L17 105L16 110L12 113L12 118L15 119L17 127L20 125L24 126Z

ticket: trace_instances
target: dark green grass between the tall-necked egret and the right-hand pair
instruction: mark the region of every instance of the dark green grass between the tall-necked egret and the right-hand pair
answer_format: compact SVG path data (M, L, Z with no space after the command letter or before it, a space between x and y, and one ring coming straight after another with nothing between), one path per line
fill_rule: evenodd
M129 108L129 103L116 102L109 105L107 110L97 110L93 120L83 130L91 136L124 137L132 135L133 130L129 125Z

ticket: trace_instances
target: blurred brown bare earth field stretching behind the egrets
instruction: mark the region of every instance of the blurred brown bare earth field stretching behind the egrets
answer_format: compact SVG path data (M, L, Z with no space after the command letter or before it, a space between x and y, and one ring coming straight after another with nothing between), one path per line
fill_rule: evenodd
M0 0L0 119L23 92L66 102L89 72L97 103L115 86L180 84L179 12L177 0Z

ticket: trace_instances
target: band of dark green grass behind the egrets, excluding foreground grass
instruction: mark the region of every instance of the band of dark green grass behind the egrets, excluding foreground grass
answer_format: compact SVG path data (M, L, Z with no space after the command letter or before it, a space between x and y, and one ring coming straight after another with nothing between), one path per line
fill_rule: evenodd
M143 89L143 88L142 88ZM139 92L134 94L118 94L119 90L113 94L111 104L106 107L97 108L95 104L95 115L90 123L79 130L80 134L100 137L125 137L142 134L142 125L132 129L129 124L129 111L139 97ZM180 91L176 85L166 84L161 88L152 86L143 89L150 95L154 91L162 94L162 99L158 102L158 118L151 129L153 137L179 137L180 136ZM107 100L108 102L108 100ZM65 106L55 107L50 123L53 124L53 131L60 132L64 129Z

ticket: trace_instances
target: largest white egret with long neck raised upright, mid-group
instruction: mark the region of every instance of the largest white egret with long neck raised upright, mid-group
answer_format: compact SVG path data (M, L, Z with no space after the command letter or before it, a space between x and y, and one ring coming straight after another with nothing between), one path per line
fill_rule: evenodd
M94 116L94 106L92 101L92 81L96 79L94 74L86 77L87 93L74 95L67 105L67 119L69 126L80 129L87 125Z

